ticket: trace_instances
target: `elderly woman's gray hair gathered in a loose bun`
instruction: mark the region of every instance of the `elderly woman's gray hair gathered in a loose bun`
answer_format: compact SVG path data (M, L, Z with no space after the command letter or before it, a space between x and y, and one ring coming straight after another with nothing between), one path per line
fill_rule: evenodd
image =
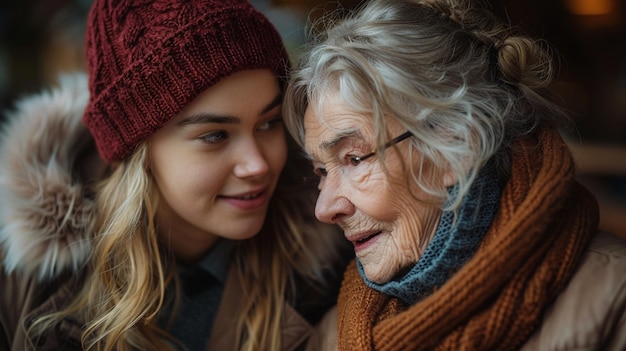
M451 171L459 191L446 209L454 210L487 161L508 170L512 140L563 117L545 97L550 51L513 32L465 0L370 1L310 38L286 91L287 128L302 145L306 108L329 94L372 117L377 145L390 139L385 118L395 118L422 160L410 179L446 199L428 174Z

